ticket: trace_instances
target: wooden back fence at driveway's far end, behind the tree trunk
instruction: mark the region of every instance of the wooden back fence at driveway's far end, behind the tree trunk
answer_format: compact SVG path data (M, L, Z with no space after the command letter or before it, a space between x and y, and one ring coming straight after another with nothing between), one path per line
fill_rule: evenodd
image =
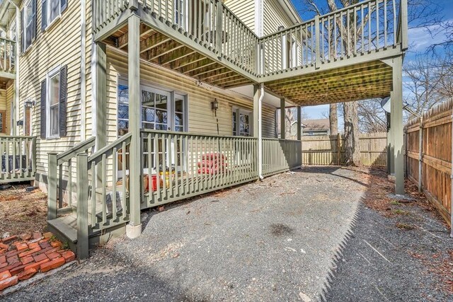
M362 165L386 166L386 132L360 134L359 141L360 161ZM302 164L345 164L345 137L340 134L302 137Z

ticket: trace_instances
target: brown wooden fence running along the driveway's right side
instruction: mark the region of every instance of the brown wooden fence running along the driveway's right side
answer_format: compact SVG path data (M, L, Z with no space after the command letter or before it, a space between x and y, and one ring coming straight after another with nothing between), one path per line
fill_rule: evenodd
M452 223L452 114L453 100L408 122L406 174L418 190Z

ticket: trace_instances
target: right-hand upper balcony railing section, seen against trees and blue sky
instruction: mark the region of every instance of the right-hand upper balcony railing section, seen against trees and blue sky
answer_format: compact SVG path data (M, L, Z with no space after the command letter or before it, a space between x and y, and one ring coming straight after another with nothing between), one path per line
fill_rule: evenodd
M263 75L319 66L401 43L401 2L369 0L260 38ZM398 13L400 12L400 13Z

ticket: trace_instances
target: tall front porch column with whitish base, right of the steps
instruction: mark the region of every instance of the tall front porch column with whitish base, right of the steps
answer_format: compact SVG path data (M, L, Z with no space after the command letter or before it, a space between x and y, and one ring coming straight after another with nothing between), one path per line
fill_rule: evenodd
M140 46L139 32L140 19L131 16L128 21L128 66L129 66L129 132L132 133L130 141L129 163L129 201L130 222L126 226L126 235L137 238L142 233L140 223L140 197L142 196L141 160L140 152Z

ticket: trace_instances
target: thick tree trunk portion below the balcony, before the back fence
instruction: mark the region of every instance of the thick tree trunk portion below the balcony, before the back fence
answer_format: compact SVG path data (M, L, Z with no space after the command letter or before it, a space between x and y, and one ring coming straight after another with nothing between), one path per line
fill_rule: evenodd
M360 165L357 102L343 103L345 109L345 165Z

